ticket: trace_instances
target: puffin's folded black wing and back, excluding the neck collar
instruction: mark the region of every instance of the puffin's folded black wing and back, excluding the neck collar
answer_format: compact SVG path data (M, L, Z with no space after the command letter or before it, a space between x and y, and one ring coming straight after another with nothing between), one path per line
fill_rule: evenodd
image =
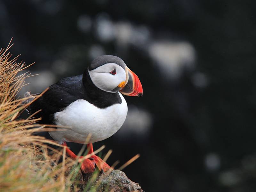
M78 99L84 99L82 78L82 75L67 77L51 85L41 97L31 103L29 113L42 109L36 114L36 117L42 117L40 123L53 124L54 113Z

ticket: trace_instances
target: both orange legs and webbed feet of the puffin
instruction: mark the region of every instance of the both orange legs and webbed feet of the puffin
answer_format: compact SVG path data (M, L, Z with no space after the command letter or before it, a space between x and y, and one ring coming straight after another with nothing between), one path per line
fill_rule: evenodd
M66 142L63 142L63 146L67 146ZM93 154L91 157L88 159L84 159L84 161L81 163L81 170L84 173L91 173L95 171L95 164L99 168L99 170L108 171L110 168L109 165L104 162L100 157L94 155L93 153L93 148L92 148L92 143L87 144L88 148L88 154ZM66 148L66 152L68 156L72 159L76 159L77 156L68 148ZM83 156L80 156L79 158L83 158Z

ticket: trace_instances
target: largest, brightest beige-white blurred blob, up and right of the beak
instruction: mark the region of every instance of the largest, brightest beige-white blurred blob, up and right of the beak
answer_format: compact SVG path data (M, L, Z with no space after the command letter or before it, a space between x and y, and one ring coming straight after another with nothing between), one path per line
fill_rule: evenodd
M188 42L158 41L148 51L165 78L179 78L185 68L194 68L195 49Z

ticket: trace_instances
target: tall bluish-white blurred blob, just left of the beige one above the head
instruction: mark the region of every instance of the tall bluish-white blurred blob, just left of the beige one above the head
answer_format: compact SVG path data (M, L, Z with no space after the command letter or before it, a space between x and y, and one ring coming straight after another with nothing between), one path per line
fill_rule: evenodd
M101 41L111 41L115 37L115 27L108 14L101 13L96 18L96 34Z

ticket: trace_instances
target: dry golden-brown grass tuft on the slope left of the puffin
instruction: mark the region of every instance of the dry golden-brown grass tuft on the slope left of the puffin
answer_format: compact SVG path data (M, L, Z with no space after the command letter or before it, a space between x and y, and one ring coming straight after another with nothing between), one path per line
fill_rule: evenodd
M69 191L74 175L65 179L64 172L76 162L57 166L59 158L65 162L65 150L64 156L57 150L49 155L45 144L58 144L32 135L49 128L36 125L39 119L32 116L18 118L29 104L24 104L25 99L17 94L30 74L24 72L28 66L16 62L18 56L12 58L8 53L11 46L0 50L0 191ZM56 174L58 179L54 179Z

